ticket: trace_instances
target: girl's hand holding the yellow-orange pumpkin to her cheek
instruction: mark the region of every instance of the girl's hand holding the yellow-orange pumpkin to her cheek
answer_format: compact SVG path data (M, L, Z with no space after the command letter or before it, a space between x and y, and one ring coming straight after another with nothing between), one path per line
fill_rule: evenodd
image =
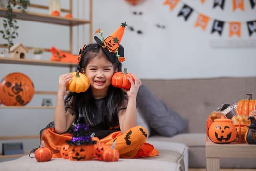
M67 92L67 84L72 80L73 75L71 73L63 74L59 76L57 95L65 96Z

